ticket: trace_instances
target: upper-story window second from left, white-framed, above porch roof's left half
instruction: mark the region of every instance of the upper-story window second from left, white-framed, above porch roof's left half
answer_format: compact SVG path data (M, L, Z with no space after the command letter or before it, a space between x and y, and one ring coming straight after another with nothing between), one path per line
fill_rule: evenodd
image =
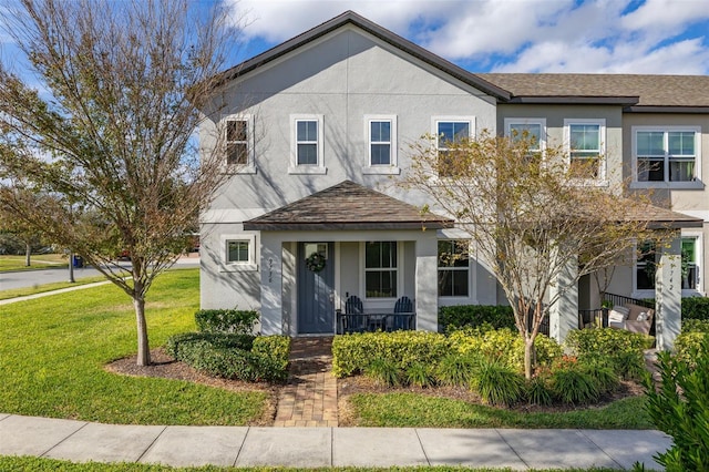
M325 174L322 115L291 115L291 174Z

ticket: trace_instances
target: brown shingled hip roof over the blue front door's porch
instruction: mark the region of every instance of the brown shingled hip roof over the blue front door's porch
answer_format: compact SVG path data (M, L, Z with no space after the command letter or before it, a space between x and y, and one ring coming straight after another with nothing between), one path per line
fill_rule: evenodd
M439 229L453 219L421 209L351 181L244 222L246 230Z

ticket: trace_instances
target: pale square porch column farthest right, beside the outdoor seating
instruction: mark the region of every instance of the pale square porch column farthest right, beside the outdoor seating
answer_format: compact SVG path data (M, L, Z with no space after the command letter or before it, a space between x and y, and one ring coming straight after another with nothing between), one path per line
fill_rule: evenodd
M655 274L655 335L657 348L671 350L681 329L681 235L677 230L660 249Z

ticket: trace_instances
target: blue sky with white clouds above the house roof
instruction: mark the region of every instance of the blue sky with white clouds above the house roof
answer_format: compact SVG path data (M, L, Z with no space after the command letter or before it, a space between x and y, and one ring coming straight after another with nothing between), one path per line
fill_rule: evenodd
M248 59L346 10L472 72L709 74L709 0L226 0Z

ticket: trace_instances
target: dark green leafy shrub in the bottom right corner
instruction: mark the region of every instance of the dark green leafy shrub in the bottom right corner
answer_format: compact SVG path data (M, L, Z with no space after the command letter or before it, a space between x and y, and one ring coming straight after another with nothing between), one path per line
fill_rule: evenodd
M661 376L656 390L645 378L647 410L655 425L672 437L671 448L657 455L667 471L709 470L709 339L693 351L696 366L668 352L658 355Z

